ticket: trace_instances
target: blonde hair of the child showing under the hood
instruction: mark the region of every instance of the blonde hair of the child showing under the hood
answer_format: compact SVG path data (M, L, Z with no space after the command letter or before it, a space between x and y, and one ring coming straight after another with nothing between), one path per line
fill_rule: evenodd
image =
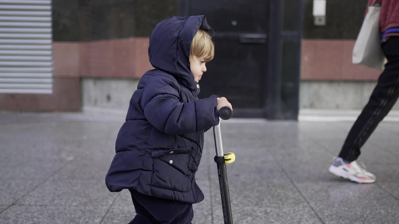
M205 62L211 61L215 56L215 45L212 37L203 29L199 29L191 42L190 55L204 57Z

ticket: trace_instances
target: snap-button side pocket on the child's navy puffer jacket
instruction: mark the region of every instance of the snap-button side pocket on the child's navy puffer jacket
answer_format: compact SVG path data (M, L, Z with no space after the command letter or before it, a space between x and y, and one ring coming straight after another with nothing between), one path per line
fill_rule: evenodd
M177 148L151 151L154 173L151 186L173 191L187 192L191 188L188 167L192 149Z

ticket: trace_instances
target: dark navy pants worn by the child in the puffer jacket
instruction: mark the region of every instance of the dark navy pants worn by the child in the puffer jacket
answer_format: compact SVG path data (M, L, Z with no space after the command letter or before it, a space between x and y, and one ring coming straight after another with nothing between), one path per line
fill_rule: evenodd
M129 190L136 216L129 224L191 224L193 205Z

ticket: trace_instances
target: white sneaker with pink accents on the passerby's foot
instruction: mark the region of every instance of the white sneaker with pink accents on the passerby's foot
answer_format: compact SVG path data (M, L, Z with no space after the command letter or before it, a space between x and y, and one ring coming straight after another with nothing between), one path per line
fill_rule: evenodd
M357 183L374 183L376 179L375 175L366 171L365 167L363 167L356 160L352 163L345 163L341 157L337 157L334 159L328 171L330 171L332 175L350 179Z

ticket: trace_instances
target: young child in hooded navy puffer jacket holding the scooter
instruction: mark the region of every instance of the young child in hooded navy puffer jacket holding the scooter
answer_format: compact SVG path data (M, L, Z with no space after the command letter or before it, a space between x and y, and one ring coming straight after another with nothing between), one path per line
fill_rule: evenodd
M144 73L119 130L116 155L105 178L111 192L129 189L132 224L190 224L192 204L204 196L196 184L204 130L219 123L226 98L198 99L214 46L205 16L173 16L158 23Z

